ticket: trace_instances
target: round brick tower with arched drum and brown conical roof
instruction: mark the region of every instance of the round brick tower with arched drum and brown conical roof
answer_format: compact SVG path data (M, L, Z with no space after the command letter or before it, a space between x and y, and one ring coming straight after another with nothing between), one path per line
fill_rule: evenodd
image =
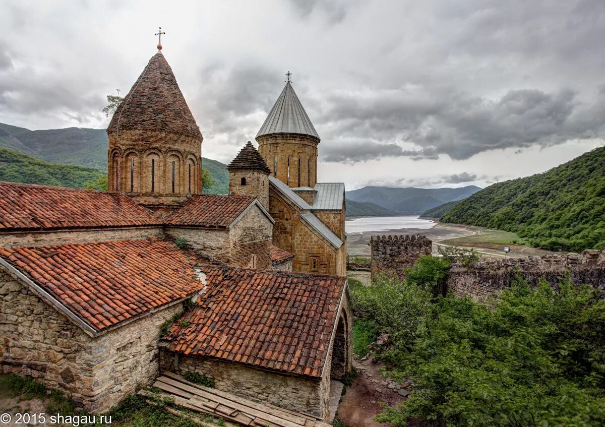
M107 129L108 191L201 193L203 137L162 53L149 59Z

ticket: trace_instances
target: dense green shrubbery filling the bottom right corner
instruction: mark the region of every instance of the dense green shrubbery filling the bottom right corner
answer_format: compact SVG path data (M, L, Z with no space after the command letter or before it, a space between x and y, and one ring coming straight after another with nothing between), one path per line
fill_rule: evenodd
M401 310L390 298L375 300L395 317ZM414 390L379 422L605 425L605 301L591 288L566 279L557 292L518 279L488 304L449 295L418 313L415 327L397 326L402 333L382 354Z

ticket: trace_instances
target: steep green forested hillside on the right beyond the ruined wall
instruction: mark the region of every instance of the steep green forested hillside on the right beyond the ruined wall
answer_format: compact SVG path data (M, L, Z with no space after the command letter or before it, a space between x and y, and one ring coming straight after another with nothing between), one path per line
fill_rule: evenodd
M605 247L605 147L543 174L486 187L444 215L447 223L517 232L533 246Z

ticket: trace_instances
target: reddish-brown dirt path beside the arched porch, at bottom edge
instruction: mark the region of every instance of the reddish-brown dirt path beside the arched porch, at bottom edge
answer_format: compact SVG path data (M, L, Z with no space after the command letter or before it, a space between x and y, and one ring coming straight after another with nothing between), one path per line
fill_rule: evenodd
M336 417L350 427L384 427L387 423L378 423L373 417L382 410L381 402L387 405L397 405L403 402L408 391L397 391L395 384L382 377L379 368L381 363L373 363L371 357L366 360L354 360L353 366L359 376L347 387L347 393L342 396ZM389 388L389 387L392 388Z

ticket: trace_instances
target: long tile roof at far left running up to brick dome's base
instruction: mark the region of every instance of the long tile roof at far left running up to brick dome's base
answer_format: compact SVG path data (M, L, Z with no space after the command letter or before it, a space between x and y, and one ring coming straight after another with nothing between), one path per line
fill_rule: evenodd
M124 227L162 220L128 196L0 182L0 230Z

